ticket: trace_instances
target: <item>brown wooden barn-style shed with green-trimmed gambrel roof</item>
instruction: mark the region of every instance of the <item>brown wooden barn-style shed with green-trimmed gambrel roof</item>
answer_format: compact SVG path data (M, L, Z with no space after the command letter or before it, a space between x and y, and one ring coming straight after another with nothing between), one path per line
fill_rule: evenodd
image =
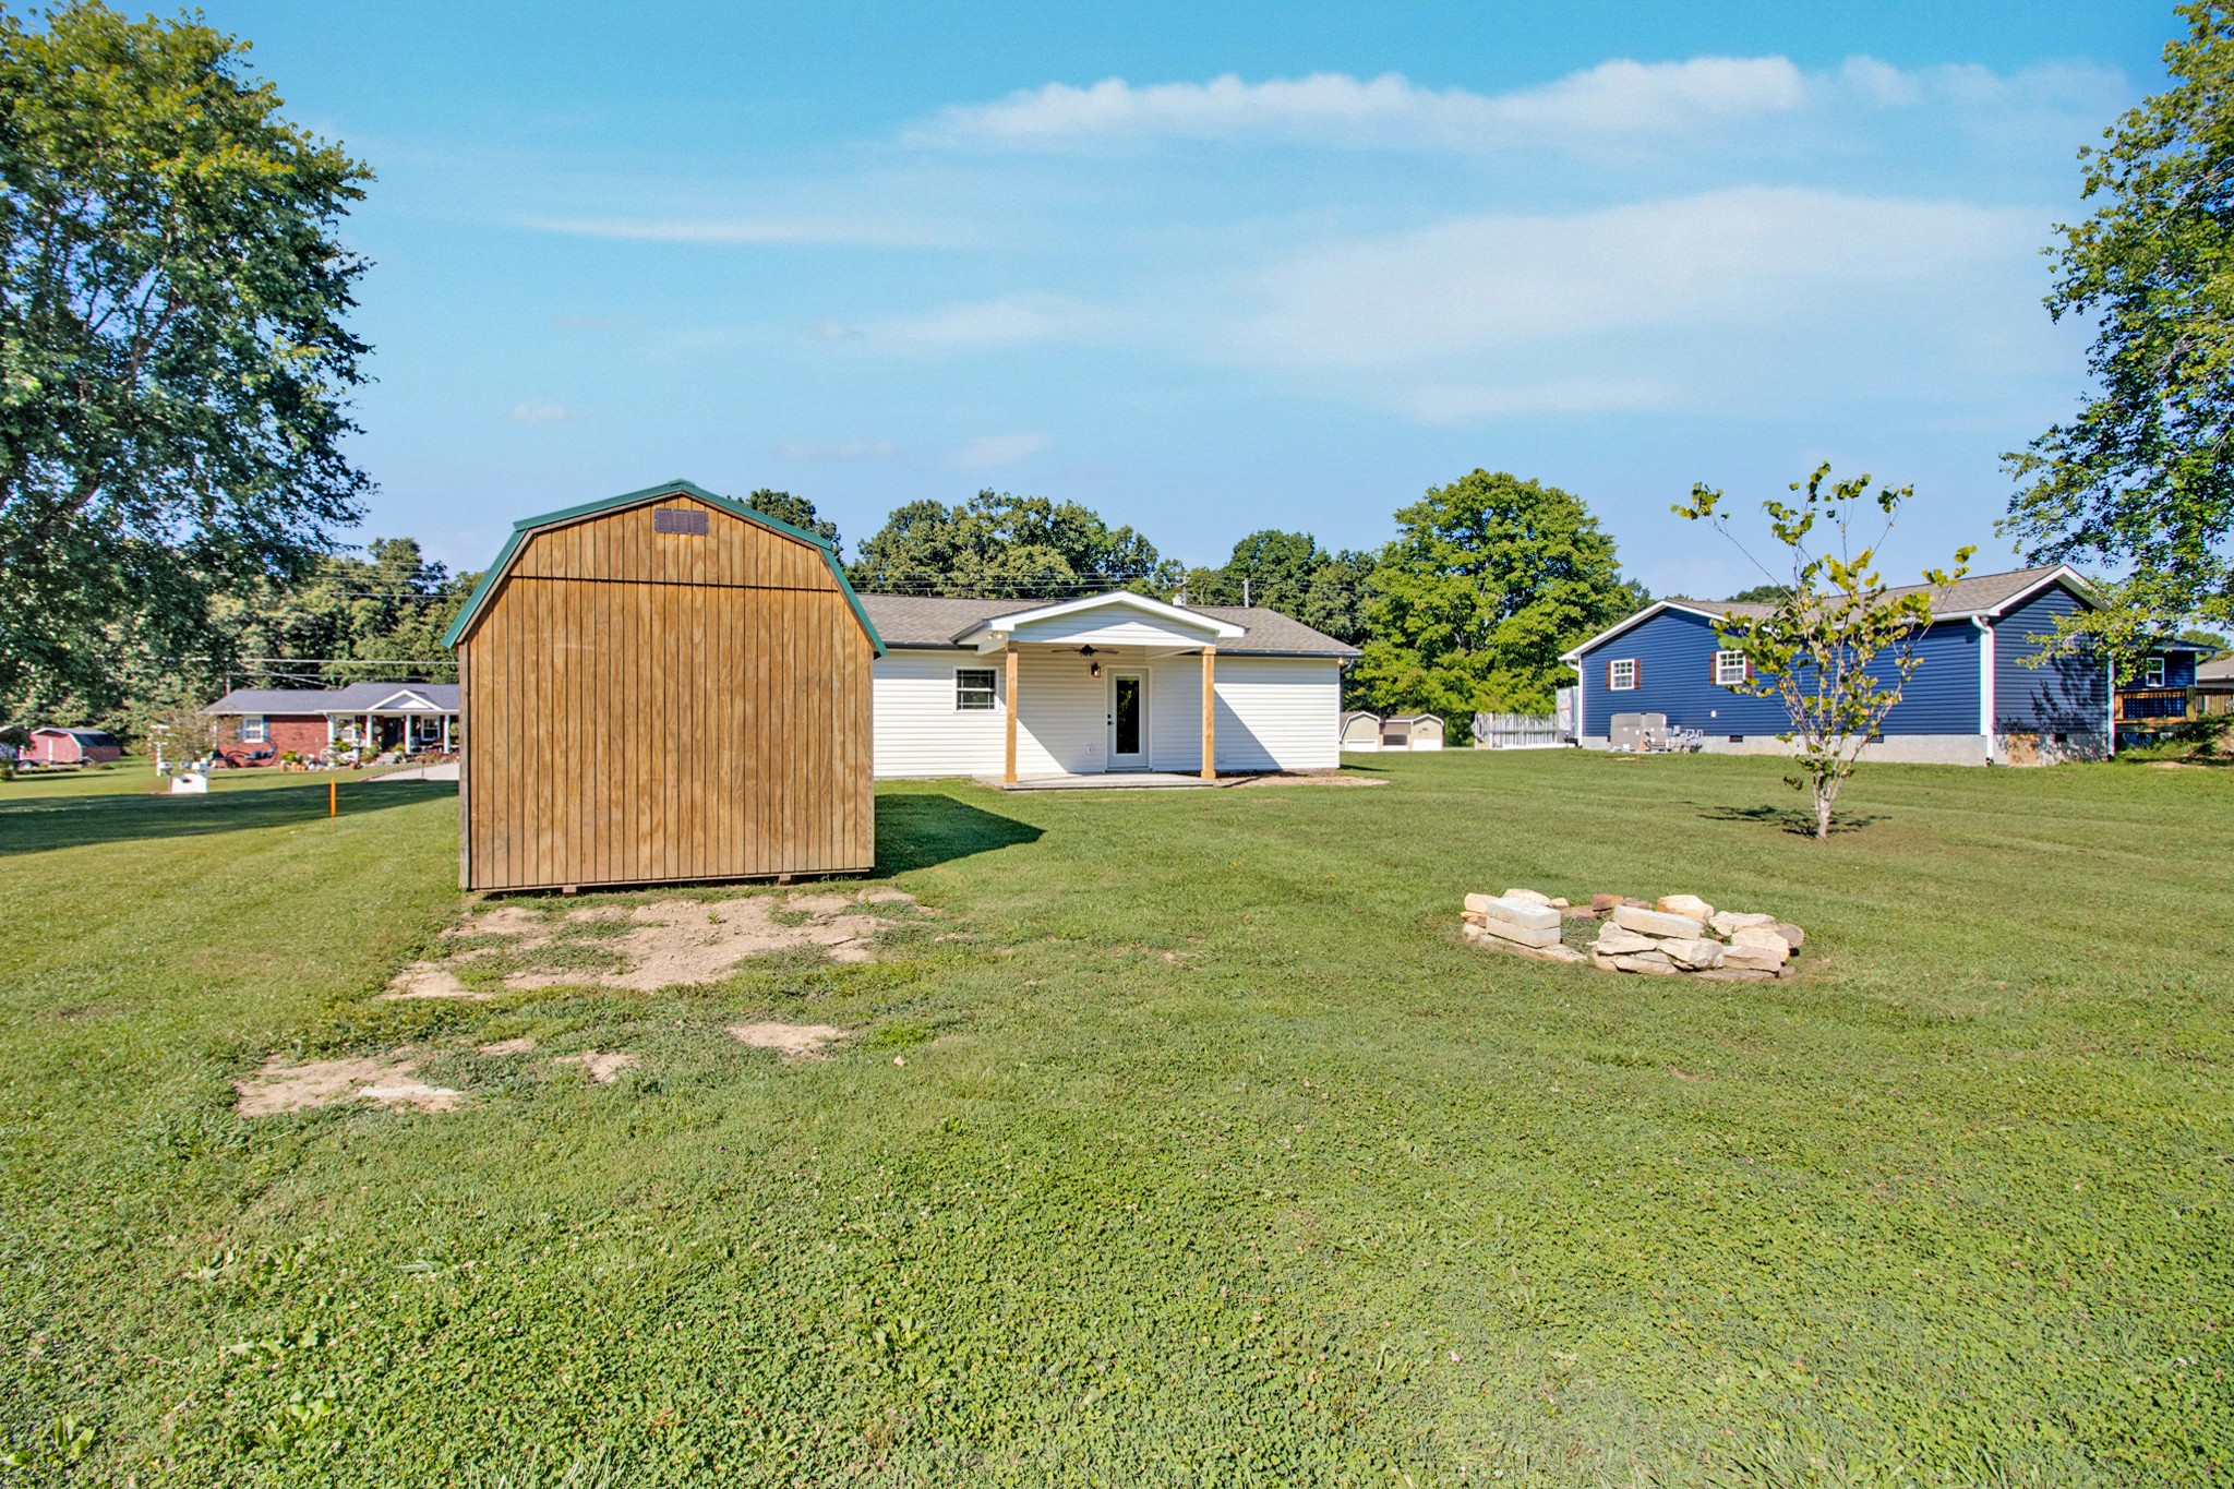
M688 480L527 518L445 641L465 888L873 866L885 647L813 534Z

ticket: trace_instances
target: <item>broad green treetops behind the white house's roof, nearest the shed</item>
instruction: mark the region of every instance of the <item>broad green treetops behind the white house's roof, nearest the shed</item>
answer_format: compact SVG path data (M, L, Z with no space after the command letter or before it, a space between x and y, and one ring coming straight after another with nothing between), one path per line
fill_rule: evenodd
M858 589L1061 598L1119 587L1168 594L1180 565L1077 502L978 491L954 507L920 500L896 509L860 545L849 576Z

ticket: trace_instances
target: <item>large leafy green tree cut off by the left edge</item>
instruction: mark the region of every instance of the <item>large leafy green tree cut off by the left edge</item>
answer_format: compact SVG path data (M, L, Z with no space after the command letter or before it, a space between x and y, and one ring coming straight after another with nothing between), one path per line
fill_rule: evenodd
M114 705L360 513L371 172L279 109L190 16L0 11L0 708Z

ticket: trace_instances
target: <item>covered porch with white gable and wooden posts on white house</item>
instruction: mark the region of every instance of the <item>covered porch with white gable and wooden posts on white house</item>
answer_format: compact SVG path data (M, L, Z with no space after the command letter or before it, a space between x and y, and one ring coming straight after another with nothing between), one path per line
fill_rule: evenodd
M976 650L987 672L999 667L999 784L1215 784L1218 643L1240 634L1229 621L1137 594L1061 601L970 627L956 643ZM985 683L990 692L994 679Z

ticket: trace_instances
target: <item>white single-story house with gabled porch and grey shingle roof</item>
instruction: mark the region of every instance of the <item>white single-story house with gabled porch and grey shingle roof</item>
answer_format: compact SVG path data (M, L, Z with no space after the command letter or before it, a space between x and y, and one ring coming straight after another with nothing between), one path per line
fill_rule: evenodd
M878 777L1334 770L1356 647L1247 605L862 594Z

